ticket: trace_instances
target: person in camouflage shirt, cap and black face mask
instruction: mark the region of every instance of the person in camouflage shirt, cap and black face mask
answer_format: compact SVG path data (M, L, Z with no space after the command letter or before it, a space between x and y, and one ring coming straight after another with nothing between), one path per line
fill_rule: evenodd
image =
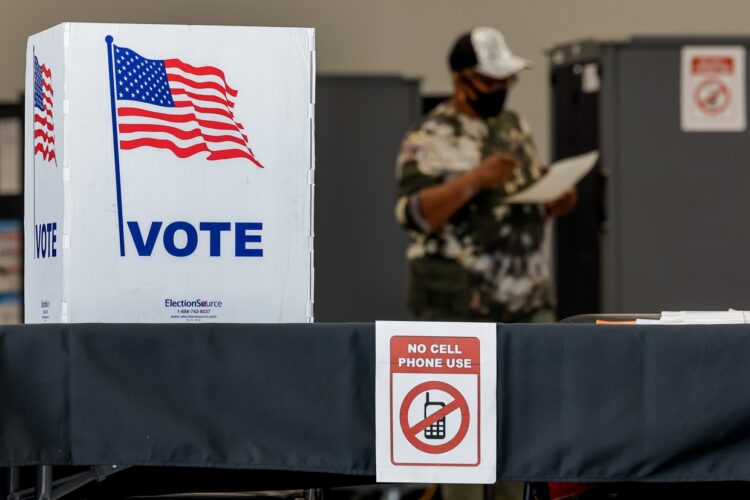
M503 109L528 65L497 30L463 35L450 55L453 98L403 141L396 217L410 234L407 301L418 319L553 317L544 226L569 211L576 194L546 205L505 203L543 174L528 124Z

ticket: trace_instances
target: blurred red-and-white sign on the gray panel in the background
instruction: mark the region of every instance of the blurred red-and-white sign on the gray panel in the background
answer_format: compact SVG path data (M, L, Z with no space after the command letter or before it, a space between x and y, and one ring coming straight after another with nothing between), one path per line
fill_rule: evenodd
M744 47L683 47L681 71L682 130L745 130L747 112Z

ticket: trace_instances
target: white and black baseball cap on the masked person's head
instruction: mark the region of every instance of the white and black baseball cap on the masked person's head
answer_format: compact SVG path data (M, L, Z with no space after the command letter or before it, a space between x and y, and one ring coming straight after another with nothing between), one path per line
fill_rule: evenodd
M464 33L453 44L449 55L453 71L473 68L490 78L509 78L532 67L532 62L511 52L502 33L494 28L477 27Z

